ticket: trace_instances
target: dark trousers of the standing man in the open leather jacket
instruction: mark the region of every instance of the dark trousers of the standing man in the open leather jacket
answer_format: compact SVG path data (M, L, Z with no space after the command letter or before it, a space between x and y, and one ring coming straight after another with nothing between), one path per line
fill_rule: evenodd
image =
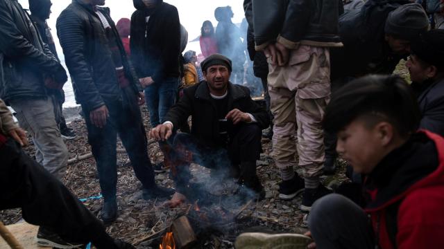
M123 101L107 102L110 113L105 127L94 126L85 111L88 141L96 159L99 183L105 201L115 201L117 192L117 133L121 138L136 177L143 187L155 185L154 172L148 158L147 140L137 96L130 86L122 89ZM83 110L87 110L83 107Z

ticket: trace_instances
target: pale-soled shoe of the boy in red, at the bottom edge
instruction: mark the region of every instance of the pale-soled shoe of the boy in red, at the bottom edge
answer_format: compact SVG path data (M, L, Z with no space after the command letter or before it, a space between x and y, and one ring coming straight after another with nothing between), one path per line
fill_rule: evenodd
M262 232L246 232L234 242L236 249L307 249L312 240L302 234L266 234Z

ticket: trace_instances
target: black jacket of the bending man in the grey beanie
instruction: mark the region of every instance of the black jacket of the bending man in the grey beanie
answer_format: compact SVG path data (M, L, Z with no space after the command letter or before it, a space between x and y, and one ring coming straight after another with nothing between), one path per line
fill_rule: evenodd
M388 14L407 0L369 0L346 10L339 17L339 35L344 44L330 50L332 82L369 73L391 74L404 55L391 53L384 38Z

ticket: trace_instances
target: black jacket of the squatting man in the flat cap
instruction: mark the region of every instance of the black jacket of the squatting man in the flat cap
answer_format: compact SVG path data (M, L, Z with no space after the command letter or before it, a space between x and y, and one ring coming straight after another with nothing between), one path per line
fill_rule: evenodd
M268 114L250 98L250 90L245 86L229 83L228 111L232 109L252 114L261 129L268 127ZM207 82L202 81L184 90L183 97L171 107L165 120L173 122L173 127L177 129L191 116L191 134L203 144L212 147L220 140L217 115Z

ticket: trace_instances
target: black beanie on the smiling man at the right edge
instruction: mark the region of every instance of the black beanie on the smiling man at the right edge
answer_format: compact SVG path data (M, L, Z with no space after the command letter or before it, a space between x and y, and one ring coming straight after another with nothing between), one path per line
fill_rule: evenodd
M430 30L411 42L411 53L424 62L444 66L444 30Z

